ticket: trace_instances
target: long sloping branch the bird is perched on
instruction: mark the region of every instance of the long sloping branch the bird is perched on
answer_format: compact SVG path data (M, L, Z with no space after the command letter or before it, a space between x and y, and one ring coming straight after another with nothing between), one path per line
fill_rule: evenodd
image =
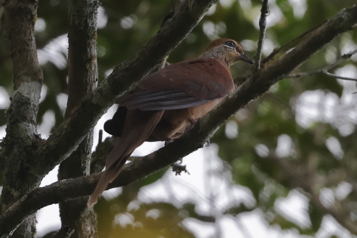
M247 81L237 88L231 97L201 118L189 134L178 138L150 155L138 158L134 162L127 164L108 189L125 186L143 178L202 147L207 138L230 115L245 106L249 101L262 95L270 86L289 74L314 52L321 49L322 46L342 32L350 30L356 23L357 5L338 12L325 24L315 29L293 50L250 76ZM6 235L11 231L11 227L16 226L22 219L41 207L90 194L100 175L101 173L95 173L90 176L59 181L43 188L32 189L0 217L0 235Z

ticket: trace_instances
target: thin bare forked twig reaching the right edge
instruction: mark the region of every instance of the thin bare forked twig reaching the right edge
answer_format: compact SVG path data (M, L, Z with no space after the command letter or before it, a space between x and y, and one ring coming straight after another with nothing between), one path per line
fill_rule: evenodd
M330 70L330 69L332 69L333 67L335 67L335 66L341 64L343 61L350 59L350 58L352 57L352 55L355 55L355 54L357 54L357 49L352 50L352 51L348 52L347 54L342 55L340 59L336 60L335 62L333 62L333 63L330 64L330 65L327 65L327 66L324 67L323 69L318 69L318 70L312 70L312 71L307 71L307 72L301 72L301 73L290 74L290 75L286 76L286 78L300 78L300 77L306 77L306 76L311 76L311 75L314 75L314 74L323 73L323 74L326 74L326 75L328 75L328 76L335 77L335 78L337 78L337 79L357 81L357 79L355 79L355 78L343 77L343 76L340 76L340 75L337 75L337 74L332 74L332 73L328 72L328 70Z

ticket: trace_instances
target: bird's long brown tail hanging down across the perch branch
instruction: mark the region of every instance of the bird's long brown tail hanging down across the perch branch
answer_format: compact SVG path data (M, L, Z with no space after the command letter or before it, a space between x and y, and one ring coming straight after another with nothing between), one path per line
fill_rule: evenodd
M98 201L108 184L118 176L134 149L150 136L163 112L128 110L121 140L107 156L106 169L88 201L88 206L93 206Z

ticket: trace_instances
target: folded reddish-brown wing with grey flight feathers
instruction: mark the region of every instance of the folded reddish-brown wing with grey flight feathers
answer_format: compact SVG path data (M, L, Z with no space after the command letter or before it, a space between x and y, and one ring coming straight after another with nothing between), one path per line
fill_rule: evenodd
M154 72L116 103L129 109L172 110L201 105L234 90L228 66L211 58L186 60Z

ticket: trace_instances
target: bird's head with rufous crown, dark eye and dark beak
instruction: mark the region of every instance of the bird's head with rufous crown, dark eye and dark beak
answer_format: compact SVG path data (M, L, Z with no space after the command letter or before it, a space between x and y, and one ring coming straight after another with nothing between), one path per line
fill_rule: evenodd
M231 66L237 61L245 61L253 64L253 61L244 54L237 41L231 39L217 39L207 46L202 57L220 58Z

